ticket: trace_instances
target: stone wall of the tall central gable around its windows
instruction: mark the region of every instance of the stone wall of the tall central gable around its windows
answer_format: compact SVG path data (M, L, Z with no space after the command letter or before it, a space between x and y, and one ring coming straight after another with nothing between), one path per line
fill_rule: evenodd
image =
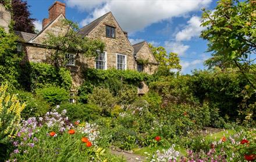
M106 37L106 25L116 28L116 38ZM88 35L91 39L101 39L105 42L105 51L107 55L107 68L116 68L116 53L126 55L127 69L135 68L134 49L126 38L122 29L116 23L112 13L109 13L104 20L102 20L97 27L95 27ZM94 68L94 61L90 62L89 67Z

